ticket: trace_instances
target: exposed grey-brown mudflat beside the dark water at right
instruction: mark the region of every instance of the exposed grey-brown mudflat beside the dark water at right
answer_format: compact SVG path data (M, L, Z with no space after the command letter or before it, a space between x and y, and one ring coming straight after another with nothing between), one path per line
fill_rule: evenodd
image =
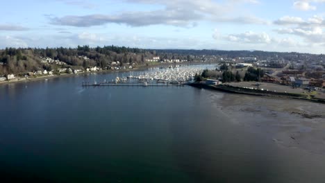
M255 133L280 148L325 155L322 103L289 98L225 94L219 109L244 130Z

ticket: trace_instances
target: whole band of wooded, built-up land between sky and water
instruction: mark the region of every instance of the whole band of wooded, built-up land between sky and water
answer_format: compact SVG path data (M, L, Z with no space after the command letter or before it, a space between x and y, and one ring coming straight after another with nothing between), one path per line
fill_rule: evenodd
M98 71L132 71L160 64L213 63L216 69L202 73L201 79L238 82L242 84L236 86L242 87L248 87L244 81L265 82L311 92L325 87L324 61L322 54L265 51L152 50L124 46L6 48L0 50L0 82ZM287 92L285 90L283 92Z

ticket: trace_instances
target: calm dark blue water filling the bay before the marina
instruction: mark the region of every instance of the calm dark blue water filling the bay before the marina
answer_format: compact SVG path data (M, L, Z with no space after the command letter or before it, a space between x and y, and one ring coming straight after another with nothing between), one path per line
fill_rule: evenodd
M283 150L245 132L218 110L222 93L81 87L83 80L116 75L0 86L2 180L325 181L324 159Z

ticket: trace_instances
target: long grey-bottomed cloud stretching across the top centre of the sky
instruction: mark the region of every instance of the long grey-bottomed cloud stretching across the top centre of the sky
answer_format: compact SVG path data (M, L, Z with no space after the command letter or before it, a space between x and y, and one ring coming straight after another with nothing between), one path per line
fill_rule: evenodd
M256 0L231 0L217 3L213 0L126 0L130 3L153 4L162 6L157 10L124 11L116 15L69 15L65 17L49 17L51 24L63 26L89 27L108 23L126 24L128 26L171 25L193 27L197 21L210 20L217 22L231 22L235 24L266 24L263 19L254 16L227 17L231 10L240 3L258 3Z

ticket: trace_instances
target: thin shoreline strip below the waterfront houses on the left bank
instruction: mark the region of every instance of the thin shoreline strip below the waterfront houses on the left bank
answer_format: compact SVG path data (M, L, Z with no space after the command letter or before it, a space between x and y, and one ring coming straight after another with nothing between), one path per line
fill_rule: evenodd
M120 70L101 70L101 71L96 71L96 72L82 72L82 73L62 73L60 75L51 75L51 76L39 76L36 78L21 78L21 79L15 79L15 80L6 80L6 81L1 81L1 85L10 85L10 84L15 84L15 83L22 83L22 82L33 82L37 80L43 80L43 79L52 79L52 78L59 78L59 77L71 77L71 76L78 76L82 74L87 74L87 73L123 73L123 72L129 72L129 71L142 71L154 67L163 67L163 66L171 66L171 65L177 65L177 64L188 64L188 65L196 65L196 64L213 64L210 62L188 62L188 63L158 63L158 64L149 64L147 65L142 65L139 67L135 67L133 69L120 69Z

